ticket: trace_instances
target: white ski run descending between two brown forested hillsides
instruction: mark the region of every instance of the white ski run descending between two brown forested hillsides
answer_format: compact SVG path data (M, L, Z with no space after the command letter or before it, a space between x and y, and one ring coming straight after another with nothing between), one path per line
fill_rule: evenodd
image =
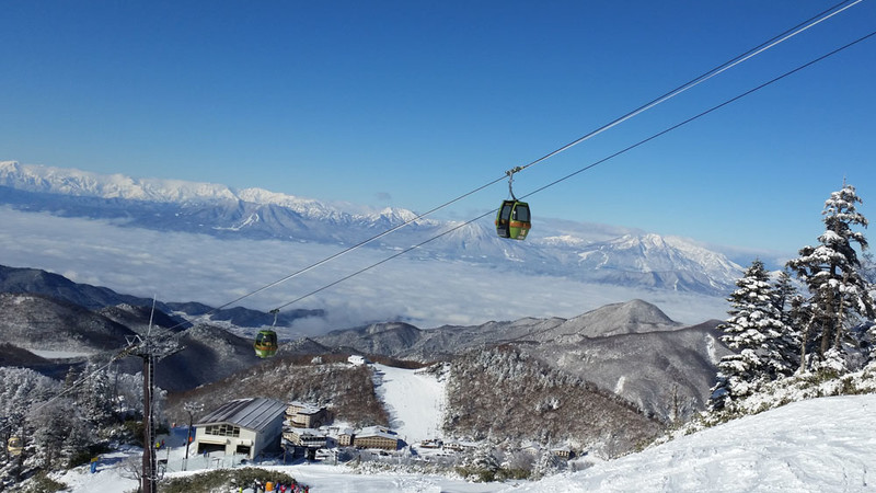
M434 375L385 365L373 365L377 391L390 412L390 427L408 445L441 438L445 383Z

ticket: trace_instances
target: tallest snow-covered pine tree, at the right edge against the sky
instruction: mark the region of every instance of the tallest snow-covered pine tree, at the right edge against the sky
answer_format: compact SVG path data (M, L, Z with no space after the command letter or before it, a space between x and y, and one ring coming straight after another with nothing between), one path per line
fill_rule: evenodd
M802 368L848 370L849 330L873 319L871 285L862 276L861 262L853 243L867 248L864 233L853 226L867 227L867 219L855 209L861 203L855 187L843 184L825 202L821 213L826 230L818 246L804 246L797 259L787 262L806 284L810 313L804 330Z

